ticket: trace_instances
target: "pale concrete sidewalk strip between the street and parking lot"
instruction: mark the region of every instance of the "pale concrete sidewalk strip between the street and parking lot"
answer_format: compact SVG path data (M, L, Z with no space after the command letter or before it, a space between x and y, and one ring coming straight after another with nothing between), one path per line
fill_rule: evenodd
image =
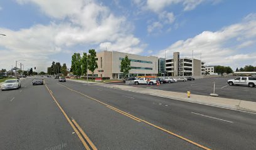
M79 83L85 83L85 82L87 83L87 81L82 81ZM90 82L90 83L94 83L94 82ZM239 111L250 111L250 112L256 113L256 103L252 101L243 101L243 100L228 99L228 98L217 98L212 96L201 96L201 95L195 95L195 94L191 94L190 98L187 98L186 93L163 91L159 89L145 89L145 88L137 88L133 86L122 86L122 85L113 85L113 84L104 84L104 83L97 83L97 85L104 86L106 88L114 88L114 89L120 89L124 91L130 91L134 93L158 96L161 98L176 99L178 101L186 101L189 103L205 104L208 106L234 109Z

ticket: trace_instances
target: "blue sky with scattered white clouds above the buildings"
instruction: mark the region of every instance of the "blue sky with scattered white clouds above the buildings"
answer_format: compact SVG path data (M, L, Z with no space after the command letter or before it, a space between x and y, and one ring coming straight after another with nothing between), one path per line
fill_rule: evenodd
M256 66L255 0L1 0L0 69L70 68L73 53L120 51Z

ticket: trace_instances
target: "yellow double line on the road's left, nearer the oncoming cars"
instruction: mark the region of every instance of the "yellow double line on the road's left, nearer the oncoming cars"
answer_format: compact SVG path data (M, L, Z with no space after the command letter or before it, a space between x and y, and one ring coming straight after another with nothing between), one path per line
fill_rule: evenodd
M83 146L85 147L85 149L87 150L97 150L96 146L92 143L92 141L88 138L87 134L85 134L85 132L83 131L83 129L78 125L78 123L75 121L75 119L72 119L72 121L70 120L70 118L68 118L68 115L65 113L65 111L61 108L60 104L58 103L58 101L55 99L55 97L53 96L51 90L48 88L48 86L45 84L46 88L48 89L48 92L51 95L51 98L53 98L53 100L55 101L55 103L57 104L58 108L60 108L60 111L63 113L63 115L65 116L65 118L67 119L68 123L70 124L70 126L72 126L73 130L75 131L75 133L77 134L78 138L80 139L80 141L82 141Z

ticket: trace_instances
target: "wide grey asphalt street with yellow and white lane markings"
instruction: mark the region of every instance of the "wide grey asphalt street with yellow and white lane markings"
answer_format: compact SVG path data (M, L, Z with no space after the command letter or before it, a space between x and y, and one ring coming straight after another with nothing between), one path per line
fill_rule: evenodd
M68 119L98 149L256 149L256 114L52 78L45 78L47 87L32 86L31 80L0 91L0 149L85 149Z

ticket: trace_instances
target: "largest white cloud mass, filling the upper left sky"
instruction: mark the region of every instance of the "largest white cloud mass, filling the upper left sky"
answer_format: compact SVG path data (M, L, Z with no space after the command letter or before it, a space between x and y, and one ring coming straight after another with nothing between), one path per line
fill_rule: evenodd
M40 66L38 69L45 70L49 65L45 62L51 62L50 56L70 53L72 46L77 45L100 47L102 43L110 42L111 46L108 47L110 51L133 51L133 53L143 51L144 44L131 34L132 26L126 18L115 16L109 8L93 0L17 0L17 2L24 5L35 4L43 14L51 18L52 22L18 31L0 28L1 32L8 35L0 40L0 51L11 52L4 53L4 63L6 62L8 66L13 64L15 58L21 58L26 59L26 64L35 63Z

